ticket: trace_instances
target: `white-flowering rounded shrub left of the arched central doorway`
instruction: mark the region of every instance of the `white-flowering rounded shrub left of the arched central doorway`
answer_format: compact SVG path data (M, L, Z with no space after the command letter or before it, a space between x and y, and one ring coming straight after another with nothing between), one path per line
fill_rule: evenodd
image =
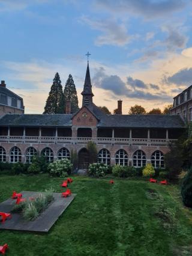
M53 163L49 163L48 170L49 173L53 176L66 177L71 173L72 166L73 165L71 164L71 161L65 158L56 160Z

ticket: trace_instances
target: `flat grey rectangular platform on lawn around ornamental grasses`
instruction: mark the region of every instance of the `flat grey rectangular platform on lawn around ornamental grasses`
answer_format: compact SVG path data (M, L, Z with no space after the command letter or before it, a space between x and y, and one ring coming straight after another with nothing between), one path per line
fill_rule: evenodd
M23 198L37 197L43 192L22 191ZM52 225L56 222L60 215L67 209L74 200L76 194L63 198L61 193L53 193L54 201L50 203L46 210L41 213L34 221L25 221L22 213L11 213L12 218L7 219L4 223L0 223L1 230L25 230L48 232ZM16 200L8 199L0 203L0 212L9 213L13 208Z

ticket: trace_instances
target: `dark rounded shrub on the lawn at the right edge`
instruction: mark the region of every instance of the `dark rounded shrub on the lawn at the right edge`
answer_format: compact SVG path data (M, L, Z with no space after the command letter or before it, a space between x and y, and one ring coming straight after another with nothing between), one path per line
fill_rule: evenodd
M184 205L192 208L192 168L187 172L182 181L181 196Z

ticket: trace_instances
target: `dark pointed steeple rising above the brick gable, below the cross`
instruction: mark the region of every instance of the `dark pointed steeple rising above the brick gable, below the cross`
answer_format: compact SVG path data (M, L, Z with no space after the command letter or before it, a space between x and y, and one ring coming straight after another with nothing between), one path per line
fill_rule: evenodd
M88 61L88 66L86 68L86 76L85 76L85 83L82 91L82 96L83 96L82 106L92 107L92 97L94 96L94 94L92 93L91 78L89 73L89 61Z

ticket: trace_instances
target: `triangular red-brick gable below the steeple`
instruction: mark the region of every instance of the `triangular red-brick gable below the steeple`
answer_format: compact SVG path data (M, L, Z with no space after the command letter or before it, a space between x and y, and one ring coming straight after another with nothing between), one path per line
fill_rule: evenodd
M95 115L85 106L72 118L73 126L97 126L97 122Z

